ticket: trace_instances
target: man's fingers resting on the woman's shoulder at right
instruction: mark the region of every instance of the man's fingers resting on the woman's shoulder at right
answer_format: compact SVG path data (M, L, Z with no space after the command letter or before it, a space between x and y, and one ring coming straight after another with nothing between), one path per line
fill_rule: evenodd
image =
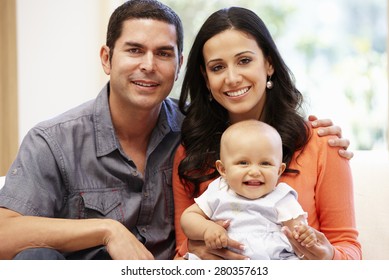
M352 159L354 153L351 151L347 151L350 146L350 140L346 138L342 138L342 129L334 125L330 119L318 120L316 116L310 115L308 120L311 122L312 127L320 127L318 130L319 136L326 135L336 135L339 139L330 139L328 140L328 144L332 147L340 147L342 149L339 150L339 155L346 159Z

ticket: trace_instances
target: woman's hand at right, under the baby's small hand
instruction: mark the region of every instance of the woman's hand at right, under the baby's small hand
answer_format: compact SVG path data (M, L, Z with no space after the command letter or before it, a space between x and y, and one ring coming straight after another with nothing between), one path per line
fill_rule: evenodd
M334 248L332 247L331 243L328 241L328 239L325 237L323 233L317 231L314 228L311 229L315 232L317 241L315 242L314 245L310 247L301 245L300 242L298 241L298 237L296 239L287 226L282 227L282 232L289 239L289 242L290 244L292 244L292 247L296 252L296 255L300 259L332 260L334 256Z

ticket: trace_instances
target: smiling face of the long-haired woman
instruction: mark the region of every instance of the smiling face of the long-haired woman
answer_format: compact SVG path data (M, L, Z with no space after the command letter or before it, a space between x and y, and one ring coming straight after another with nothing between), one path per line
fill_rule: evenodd
M260 119L267 77L274 70L255 39L229 29L204 44L203 56L207 86L229 112L230 121Z

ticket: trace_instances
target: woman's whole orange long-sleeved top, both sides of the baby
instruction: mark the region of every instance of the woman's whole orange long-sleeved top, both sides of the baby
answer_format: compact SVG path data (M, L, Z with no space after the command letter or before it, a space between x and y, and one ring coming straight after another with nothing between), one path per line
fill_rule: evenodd
M349 162L338 155L338 148L328 145L331 136L319 137L317 129L312 131L304 151L301 154L299 151L295 152L289 166L300 173L284 173L279 181L289 184L297 191L298 201L308 213L309 225L325 234L334 246L333 259L361 259ZM176 258L187 252L186 236L180 226L180 217L182 212L194 203L178 176L178 164L184 155L185 149L179 146L173 167ZM209 183L210 181L201 184L200 194Z

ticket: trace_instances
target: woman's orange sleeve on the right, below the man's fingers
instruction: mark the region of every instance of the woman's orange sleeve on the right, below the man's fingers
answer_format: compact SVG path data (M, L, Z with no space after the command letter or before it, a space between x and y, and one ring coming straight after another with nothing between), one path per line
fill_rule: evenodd
M361 259L349 161L339 156L339 148L328 145L328 137L315 138L321 142L321 145L317 145L321 148L315 192L320 231L334 246L333 259Z

